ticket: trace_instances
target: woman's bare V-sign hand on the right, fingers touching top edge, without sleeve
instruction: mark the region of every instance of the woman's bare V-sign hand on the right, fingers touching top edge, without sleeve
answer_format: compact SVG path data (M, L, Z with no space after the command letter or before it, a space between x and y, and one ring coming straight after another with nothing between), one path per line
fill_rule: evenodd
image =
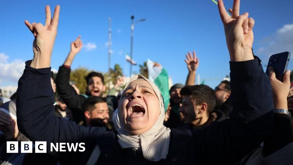
M240 0L234 0L232 16L226 12L223 0L218 0L219 13L225 29L226 42L231 61L252 60L253 18L248 13L239 15Z

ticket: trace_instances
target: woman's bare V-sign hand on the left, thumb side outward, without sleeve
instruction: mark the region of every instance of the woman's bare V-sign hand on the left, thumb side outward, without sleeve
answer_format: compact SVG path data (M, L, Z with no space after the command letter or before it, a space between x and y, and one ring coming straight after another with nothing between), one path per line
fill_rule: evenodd
M45 26L42 23L32 24L25 20L25 25L35 36L33 41L34 57L30 64L33 68L48 68L51 63L51 54L57 36L57 26L59 20L60 6L55 7L53 19L51 17L50 6L46 6L46 22Z

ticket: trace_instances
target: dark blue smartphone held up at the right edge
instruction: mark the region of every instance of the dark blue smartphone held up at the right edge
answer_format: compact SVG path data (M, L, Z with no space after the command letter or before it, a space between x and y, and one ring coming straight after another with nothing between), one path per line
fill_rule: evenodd
M267 73L268 76L270 76L269 67L273 67L276 73L276 78L283 82L283 75L285 71L287 70L287 66L290 59L290 52L283 52L278 53L270 56L269 63L267 66L267 70L265 73Z

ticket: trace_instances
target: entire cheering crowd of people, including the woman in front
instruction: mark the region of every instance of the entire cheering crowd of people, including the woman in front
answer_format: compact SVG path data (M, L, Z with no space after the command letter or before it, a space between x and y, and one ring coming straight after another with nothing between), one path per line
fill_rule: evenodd
M45 25L25 21L35 37L34 55L25 62L11 101L0 98L0 165L293 164L290 71L283 81L273 68L269 76L263 72L252 50L254 20L239 14L239 0L229 9L231 16L222 0L218 8L231 81L215 89L195 85L199 58L188 52L186 83L170 88L168 105L159 87L140 74L127 83L119 78L105 97L103 74L91 72L86 93L80 94L70 84L71 64L83 46L80 36L54 80L50 61L60 6L53 18L46 6ZM7 153L7 141L85 143L85 150Z

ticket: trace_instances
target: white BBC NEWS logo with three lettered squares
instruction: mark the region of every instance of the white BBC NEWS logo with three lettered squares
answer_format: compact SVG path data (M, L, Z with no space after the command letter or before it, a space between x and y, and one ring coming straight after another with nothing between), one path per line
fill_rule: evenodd
M50 143L50 151L56 152L83 152L86 150L84 143ZM47 142L21 142L21 153L47 153ZM18 153L18 142L7 142L6 153Z

